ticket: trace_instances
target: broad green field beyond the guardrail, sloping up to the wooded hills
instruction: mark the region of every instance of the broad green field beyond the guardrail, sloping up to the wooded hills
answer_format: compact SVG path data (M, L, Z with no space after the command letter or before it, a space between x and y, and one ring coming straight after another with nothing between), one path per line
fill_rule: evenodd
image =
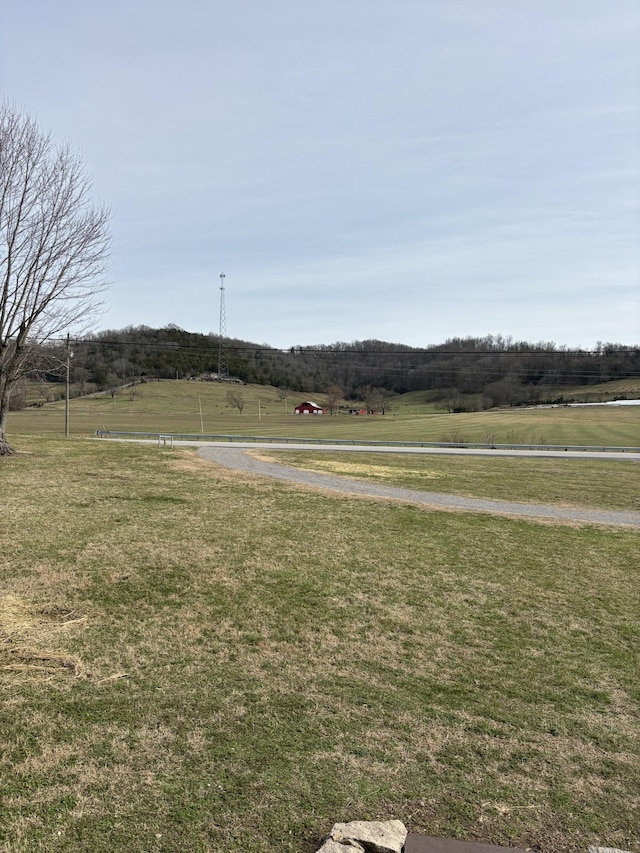
M396 414L372 417L296 416L293 408L306 395L291 394L283 401L274 388L247 385L240 389L246 405L239 414L226 402L227 390L216 383L167 381L125 389L114 399L109 395L74 399L69 407L71 434L87 436L97 429L111 429L382 441L640 444L640 406L517 408L469 414L411 414L399 409ZM323 402L322 395L311 396ZM64 403L12 412L9 433L62 435Z

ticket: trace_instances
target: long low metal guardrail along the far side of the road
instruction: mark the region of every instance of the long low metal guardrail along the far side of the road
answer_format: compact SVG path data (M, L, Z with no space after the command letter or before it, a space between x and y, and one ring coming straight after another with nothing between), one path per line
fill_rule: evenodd
M180 432L126 432L121 430L97 429L98 438L134 438L146 439L166 443L171 441L228 441L250 442L252 444L308 444L310 446L322 447L322 445L340 445L344 447L434 447L444 449L469 449L469 450L557 450L557 451L585 451L599 453L640 453L640 447L608 447L604 445L580 445L580 444L487 444L483 442L461 442L461 441L374 441L366 439L350 438L291 438L264 436L264 435L204 435L202 433L180 433Z

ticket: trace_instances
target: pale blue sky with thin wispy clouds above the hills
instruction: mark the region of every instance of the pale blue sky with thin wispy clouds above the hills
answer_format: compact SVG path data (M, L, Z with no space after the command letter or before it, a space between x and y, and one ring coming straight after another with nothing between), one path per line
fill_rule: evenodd
M113 211L98 328L640 344L638 0L31 0L0 90Z

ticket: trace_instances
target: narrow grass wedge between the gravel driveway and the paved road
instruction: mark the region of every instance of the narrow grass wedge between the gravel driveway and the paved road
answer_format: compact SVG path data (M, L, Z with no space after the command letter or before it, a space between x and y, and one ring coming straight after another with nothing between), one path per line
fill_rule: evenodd
M612 461L482 456L255 451L261 459L425 492L640 511L640 454Z

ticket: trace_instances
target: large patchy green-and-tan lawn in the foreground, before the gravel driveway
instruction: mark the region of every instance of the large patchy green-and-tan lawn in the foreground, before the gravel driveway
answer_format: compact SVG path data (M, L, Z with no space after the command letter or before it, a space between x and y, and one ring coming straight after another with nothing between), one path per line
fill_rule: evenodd
M16 444L0 849L312 853L399 818L640 850L637 533Z

